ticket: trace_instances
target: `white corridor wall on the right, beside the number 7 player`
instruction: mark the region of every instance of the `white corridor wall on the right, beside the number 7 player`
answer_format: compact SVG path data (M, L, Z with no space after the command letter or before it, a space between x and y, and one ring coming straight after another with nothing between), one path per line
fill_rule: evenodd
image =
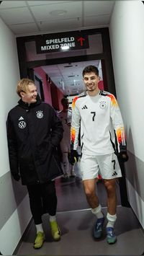
M130 205L144 227L144 4L115 1L109 25L117 100L122 110L127 149L125 164Z

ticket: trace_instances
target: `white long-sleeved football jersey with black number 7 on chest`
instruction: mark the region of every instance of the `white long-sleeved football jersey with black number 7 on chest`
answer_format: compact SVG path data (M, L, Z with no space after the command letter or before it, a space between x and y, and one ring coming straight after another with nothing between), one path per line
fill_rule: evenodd
M77 149L81 127L81 148L84 154L104 155L126 150L125 131L120 108L113 94L99 91L94 97L87 92L73 99L71 146ZM112 143L112 128L117 143ZM114 141L115 142L115 141Z

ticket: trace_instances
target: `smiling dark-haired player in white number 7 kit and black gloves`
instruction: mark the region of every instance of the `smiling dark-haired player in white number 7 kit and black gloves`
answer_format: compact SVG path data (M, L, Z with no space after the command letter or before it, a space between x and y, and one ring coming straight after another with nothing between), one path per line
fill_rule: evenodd
M114 244L117 241L114 234L114 222L117 219L116 180L122 177L117 156L122 162L128 159L124 125L114 95L99 90L98 69L87 66L83 78L86 92L75 97L72 105L70 161L74 162L77 156L81 125L81 172L86 199L97 218L94 238L102 237L104 224L102 206L95 193L96 181L101 175L107 190L107 242ZM115 132L116 144L112 141L112 130Z

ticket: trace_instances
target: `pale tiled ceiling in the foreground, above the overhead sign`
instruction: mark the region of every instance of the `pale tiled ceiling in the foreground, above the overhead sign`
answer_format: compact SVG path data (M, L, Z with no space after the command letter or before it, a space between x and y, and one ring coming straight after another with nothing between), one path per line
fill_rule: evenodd
M2 1L0 17L15 35L109 26L114 1Z

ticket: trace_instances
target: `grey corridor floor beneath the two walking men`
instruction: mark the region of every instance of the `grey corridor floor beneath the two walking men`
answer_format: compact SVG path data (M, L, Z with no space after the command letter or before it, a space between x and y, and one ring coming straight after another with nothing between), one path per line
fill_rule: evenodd
M43 216L45 243L40 250L34 250L35 225L32 221L27 234L19 245L17 255L142 255L144 251L144 233L131 208L120 205L119 185L117 184L117 222L114 226L117 243L109 245L104 232L102 239L94 240L92 227L95 217L91 213L81 182L79 163L76 165L76 177L68 182L56 180L58 195L57 219L61 230L59 242L50 237L48 216ZM107 214L106 193L102 182L97 184L102 211ZM105 223L106 226L106 223Z

